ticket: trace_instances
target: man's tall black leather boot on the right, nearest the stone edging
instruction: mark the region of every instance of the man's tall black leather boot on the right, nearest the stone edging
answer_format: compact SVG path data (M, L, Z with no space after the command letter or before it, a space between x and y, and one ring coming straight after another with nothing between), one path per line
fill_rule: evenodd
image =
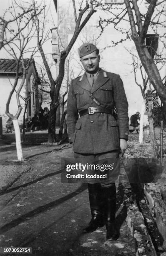
M118 239L118 230L115 223L116 215L116 186L113 184L111 187L102 187L104 197L104 216L106 223L107 235L106 238L113 240Z

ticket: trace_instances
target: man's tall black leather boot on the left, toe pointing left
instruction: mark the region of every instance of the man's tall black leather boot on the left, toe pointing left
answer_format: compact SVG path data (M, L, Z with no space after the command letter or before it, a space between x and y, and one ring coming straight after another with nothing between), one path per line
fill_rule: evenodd
M104 225L101 209L101 184L88 184L88 192L92 218L88 226L83 229L86 233L93 232Z

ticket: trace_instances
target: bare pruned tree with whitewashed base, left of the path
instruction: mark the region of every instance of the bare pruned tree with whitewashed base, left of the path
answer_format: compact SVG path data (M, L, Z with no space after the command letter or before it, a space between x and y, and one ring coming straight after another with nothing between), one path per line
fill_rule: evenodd
M29 46L30 40L34 36L34 21L31 18L34 15L39 15L43 8L37 8L37 11L35 10L35 13L31 13L28 15L28 17L25 17L25 23L26 23L26 28L22 29L22 24L24 16L22 15L20 18L17 18L17 12L16 8L18 7L18 4L15 2L16 5L13 5L13 17L15 17L15 23L13 23L13 26L17 27L17 31L20 31L17 33L15 36L14 40L10 41L8 39L8 34L5 33L4 41L8 42L8 44L4 45L4 49L8 52L8 54L15 59L15 65L16 65L16 72L15 72L15 81L14 84L12 85L12 90L9 94L8 101L6 103L6 115L10 117L13 120L13 125L15 128L15 139L16 139L16 148L17 148L17 155L18 155L18 160L22 161L23 160L23 152L22 152L22 147L21 147L21 140L20 140L20 128L18 124L18 117L20 116L20 113L22 111L22 106L20 104L20 92L23 88L23 85L25 84L25 79L26 79L26 73L27 70L32 62L33 56L35 55L36 51L38 50L37 48L32 48ZM19 6L20 9L24 12L25 10L21 5ZM25 11L26 12L26 11ZM27 13L26 13L27 14ZM27 22L27 19L29 22ZM30 56L28 59L24 58L24 55L27 53L30 53ZM20 77L20 72L22 72L22 76ZM20 82L21 78L21 82ZM20 82L20 84L19 84ZM11 113L9 111L9 105L11 98L14 96L14 92L16 92L16 100L17 100L17 105L18 105L18 110L15 114Z

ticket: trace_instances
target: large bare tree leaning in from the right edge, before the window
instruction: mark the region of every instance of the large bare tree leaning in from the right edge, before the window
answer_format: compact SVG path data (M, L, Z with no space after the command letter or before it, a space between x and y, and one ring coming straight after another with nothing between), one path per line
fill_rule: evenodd
M103 10L109 13L110 17L108 19L100 19L99 26L101 27L101 33L103 33L104 28L112 23L114 28L122 33L122 39L117 42L112 41L113 45L121 43L128 38L133 40L143 68L163 103L164 119L166 120L166 87L164 79L161 78L153 56L151 56L145 44L148 29L151 28L154 34L156 34L159 28L166 28L165 0L159 0L158 2L157 0L151 0L147 2L144 8L142 8L145 5L144 1L138 2L137 0L124 0L125 5L118 7L117 5L102 5ZM121 22L126 24L125 28ZM129 28L128 23L130 24ZM165 35L166 33L163 32L163 35L159 37L163 48L165 48Z

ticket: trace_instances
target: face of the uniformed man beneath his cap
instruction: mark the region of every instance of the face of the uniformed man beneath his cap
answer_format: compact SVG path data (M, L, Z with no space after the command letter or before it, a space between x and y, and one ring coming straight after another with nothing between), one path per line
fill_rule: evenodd
M81 57L80 61L86 72L93 74L98 71L100 56L93 51L91 54Z

